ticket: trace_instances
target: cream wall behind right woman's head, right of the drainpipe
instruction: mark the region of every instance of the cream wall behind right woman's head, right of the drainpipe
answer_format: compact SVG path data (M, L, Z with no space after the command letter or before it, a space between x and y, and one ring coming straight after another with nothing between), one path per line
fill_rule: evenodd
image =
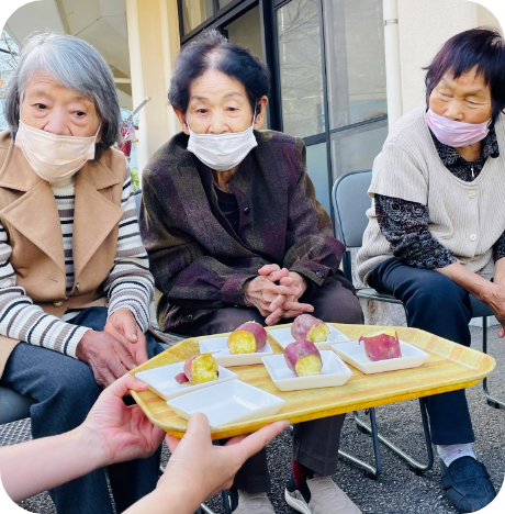
M494 26L498 19L471 0L399 0L400 60L403 112L425 101L425 71L437 52L454 34L476 26Z

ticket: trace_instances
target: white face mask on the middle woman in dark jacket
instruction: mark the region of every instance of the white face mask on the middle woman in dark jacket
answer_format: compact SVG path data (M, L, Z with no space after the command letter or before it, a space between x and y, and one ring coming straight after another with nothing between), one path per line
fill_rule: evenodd
M188 150L211 169L228 171L240 164L255 146L258 146L252 132L255 121L256 114L247 131L226 134L195 134L186 121L190 133Z

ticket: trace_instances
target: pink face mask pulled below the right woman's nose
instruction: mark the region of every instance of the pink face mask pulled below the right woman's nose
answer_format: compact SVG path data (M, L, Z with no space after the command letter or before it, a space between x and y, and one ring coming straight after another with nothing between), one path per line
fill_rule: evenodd
M484 123L464 123L440 116L429 109L426 113L426 123L440 143L462 148L482 141L487 135L491 119Z

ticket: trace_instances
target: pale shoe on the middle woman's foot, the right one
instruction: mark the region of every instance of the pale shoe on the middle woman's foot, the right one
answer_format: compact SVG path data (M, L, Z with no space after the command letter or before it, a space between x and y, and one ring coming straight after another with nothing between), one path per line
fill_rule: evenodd
M314 474L300 488L291 478L284 490L288 505L303 514L361 514L358 506L332 480L330 477Z

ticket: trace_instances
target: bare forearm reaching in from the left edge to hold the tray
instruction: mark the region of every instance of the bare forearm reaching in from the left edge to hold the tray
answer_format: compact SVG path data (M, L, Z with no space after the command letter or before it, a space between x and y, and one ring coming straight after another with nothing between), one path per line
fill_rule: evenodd
M93 471L101 458L96 442L76 428L0 448L0 480L15 503Z

